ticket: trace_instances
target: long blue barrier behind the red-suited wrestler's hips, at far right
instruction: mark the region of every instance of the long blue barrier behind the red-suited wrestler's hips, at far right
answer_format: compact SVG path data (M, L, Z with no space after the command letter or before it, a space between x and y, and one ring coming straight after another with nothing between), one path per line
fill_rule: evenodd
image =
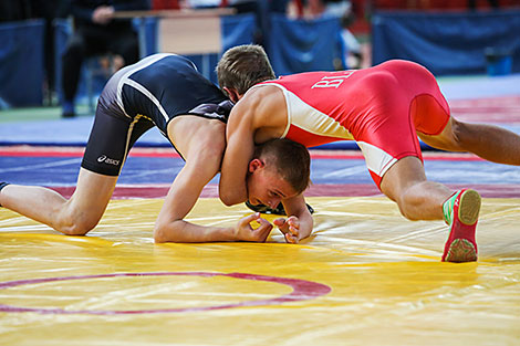
M378 12L373 17L373 64L415 61L435 75L485 74L486 50L511 52L520 72L520 11Z

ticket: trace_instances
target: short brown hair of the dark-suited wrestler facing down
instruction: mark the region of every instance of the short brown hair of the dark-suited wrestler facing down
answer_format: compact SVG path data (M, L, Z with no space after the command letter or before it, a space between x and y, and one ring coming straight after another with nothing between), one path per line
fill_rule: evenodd
M256 147L253 158L263 159L270 169L275 169L297 193L310 185L311 156L299 143L287 138L270 139Z

